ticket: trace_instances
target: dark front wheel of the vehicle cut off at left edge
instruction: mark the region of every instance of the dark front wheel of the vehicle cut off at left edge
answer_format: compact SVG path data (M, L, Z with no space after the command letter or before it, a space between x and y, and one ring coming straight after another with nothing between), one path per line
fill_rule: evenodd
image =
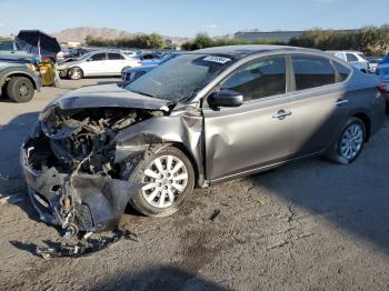
M7 84L7 96L17 103L28 102L33 97L33 84L26 77L12 77Z

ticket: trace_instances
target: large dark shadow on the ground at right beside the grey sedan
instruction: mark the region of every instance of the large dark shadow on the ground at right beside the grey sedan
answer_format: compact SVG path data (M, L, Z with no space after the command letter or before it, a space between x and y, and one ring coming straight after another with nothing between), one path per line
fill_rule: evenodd
M325 158L306 159L248 179L255 188L286 201L292 213L308 212L333 230L389 254L388 133L381 133L386 139L368 143L348 165Z

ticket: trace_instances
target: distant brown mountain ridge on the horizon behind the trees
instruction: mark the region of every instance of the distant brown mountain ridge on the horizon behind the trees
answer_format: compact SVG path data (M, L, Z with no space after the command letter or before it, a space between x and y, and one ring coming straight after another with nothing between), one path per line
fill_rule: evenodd
M66 42L66 41L78 41L83 42L88 36L92 36L93 38L102 38L102 39L119 39L119 38L130 38L137 33L131 33L126 30L118 30L118 29L109 29L109 28L91 28L91 27L79 27L79 28L69 28L66 30L62 30L60 32L53 33L53 36L58 39L59 42ZM174 43L182 43L188 40L189 38L181 38L181 37L167 37L162 36L164 39L172 40Z

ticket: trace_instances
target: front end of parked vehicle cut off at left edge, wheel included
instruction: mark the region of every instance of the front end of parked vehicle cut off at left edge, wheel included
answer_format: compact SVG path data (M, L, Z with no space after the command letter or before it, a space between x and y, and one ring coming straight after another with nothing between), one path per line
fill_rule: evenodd
M0 58L0 96L14 102L28 102L40 89L40 77L29 60Z

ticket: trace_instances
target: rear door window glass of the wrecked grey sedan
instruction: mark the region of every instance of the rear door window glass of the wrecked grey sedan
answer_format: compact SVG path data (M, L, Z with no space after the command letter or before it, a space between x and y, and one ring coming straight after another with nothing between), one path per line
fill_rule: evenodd
M296 90L335 83L335 69L330 61L316 57L293 57Z

